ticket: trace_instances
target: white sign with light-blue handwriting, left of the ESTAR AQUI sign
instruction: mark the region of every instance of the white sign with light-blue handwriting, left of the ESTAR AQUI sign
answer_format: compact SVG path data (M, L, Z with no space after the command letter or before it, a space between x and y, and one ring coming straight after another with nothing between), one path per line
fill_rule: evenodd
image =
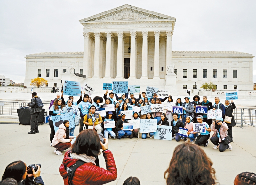
M140 119L140 132L156 132L157 119Z

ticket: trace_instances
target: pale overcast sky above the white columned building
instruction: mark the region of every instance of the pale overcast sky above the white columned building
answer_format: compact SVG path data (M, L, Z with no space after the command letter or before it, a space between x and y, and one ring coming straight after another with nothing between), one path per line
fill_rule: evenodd
M83 51L78 20L130 4L176 18L172 50L241 51L256 55L256 1L1 0L0 75L24 82L24 56ZM253 59L253 81L256 65Z

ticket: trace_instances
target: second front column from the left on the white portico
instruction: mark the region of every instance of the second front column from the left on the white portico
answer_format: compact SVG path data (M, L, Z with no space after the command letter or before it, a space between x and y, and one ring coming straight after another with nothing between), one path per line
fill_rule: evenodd
M94 66L93 66L93 77L100 78L100 32L94 32L95 36L95 48L94 48Z

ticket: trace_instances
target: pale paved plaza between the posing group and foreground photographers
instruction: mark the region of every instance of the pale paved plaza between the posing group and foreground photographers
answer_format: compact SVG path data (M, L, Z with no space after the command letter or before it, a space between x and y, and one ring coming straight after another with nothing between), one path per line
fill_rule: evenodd
M0 122L7 121L17 122L0 118ZM243 129L233 127L232 151L214 150L211 142L208 147L202 146L213 161L220 184L233 184L235 176L241 172L256 172L256 128L245 126ZM63 155L56 155L54 148L49 146L49 125L40 125L38 134L27 134L28 131L30 126L0 124L0 176L9 163L22 160L27 165L42 165L41 176L45 184L63 184L59 174ZM79 128L76 127L75 135L78 133ZM118 173L117 179L109 184L123 184L129 176L138 177L141 184L165 184L164 171L169 166L174 148L181 143L182 140L141 139L141 136L139 139L109 139L109 149L113 152ZM100 167L106 168L102 155L99 159Z

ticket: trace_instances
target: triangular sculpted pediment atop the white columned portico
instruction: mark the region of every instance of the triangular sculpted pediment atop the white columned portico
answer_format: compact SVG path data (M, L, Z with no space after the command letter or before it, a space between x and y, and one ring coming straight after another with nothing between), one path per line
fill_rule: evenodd
M104 11L94 16L79 20L80 23L93 22L107 22L107 21L136 21L136 20L176 20L176 18L157 13L154 11L145 10L136 6L125 4L117 8Z

